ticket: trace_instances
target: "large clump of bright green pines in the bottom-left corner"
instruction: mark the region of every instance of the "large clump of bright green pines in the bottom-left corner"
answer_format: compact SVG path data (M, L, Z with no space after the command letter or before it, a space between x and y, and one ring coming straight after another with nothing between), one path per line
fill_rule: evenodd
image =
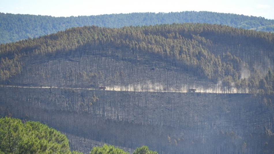
M0 119L0 151L4 153L70 153L65 135L39 122Z

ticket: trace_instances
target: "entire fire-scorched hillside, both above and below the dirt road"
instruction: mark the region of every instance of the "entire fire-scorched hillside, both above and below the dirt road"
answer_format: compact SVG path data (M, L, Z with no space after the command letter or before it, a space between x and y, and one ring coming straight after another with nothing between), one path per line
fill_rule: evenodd
M273 153L273 38L184 23L85 26L1 44L0 113L70 134L84 153L102 143Z

